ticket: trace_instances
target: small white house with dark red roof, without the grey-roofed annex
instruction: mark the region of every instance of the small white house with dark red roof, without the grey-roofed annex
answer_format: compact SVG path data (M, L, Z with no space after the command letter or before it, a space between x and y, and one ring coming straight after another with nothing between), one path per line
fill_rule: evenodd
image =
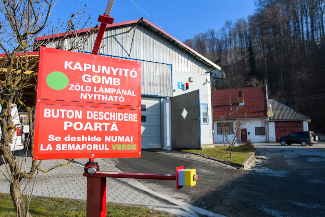
M243 122L238 143L269 141L267 86L213 90L212 105L214 143L226 142L225 131L233 139L237 120Z

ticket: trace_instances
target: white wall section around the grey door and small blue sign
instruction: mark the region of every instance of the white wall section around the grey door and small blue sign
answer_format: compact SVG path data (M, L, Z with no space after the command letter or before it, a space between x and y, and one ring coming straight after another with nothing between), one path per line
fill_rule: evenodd
M206 74L194 74L174 71L173 76L173 96L182 95L194 90L200 91L200 104L208 105L208 123L202 123L201 119L201 145L212 144L212 111L211 111L211 85L210 85L210 75ZM193 77L193 82L190 82L190 77ZM208 79L208 82L207 80ZM182 82L182 86L179 86L179 82ZM185 83L189 83L189 89L185 90ZM179 88L181 87L181 88ZM200 106L201 110L201 106Z

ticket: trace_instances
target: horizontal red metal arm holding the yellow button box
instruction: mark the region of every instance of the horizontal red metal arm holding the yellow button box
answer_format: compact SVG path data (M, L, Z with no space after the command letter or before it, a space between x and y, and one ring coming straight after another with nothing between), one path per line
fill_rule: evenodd
M184 168L184 166L183 166ZM84 173L87 177L110 177L110 178L135 178L135 179L158 179L176 180L175 174L156 174L156 173L118 173L118 172L97 172L94 174Z

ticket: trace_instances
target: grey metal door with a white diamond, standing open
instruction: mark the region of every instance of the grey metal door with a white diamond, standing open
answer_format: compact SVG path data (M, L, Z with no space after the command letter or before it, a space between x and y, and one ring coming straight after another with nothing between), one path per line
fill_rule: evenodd
M199 90L172 97L172 148L201 149Z

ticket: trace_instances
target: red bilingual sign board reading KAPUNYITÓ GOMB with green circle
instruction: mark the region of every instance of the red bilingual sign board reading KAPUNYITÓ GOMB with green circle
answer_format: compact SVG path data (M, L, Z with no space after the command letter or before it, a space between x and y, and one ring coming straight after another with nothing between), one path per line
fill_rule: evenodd
M34 159L140 157L141 63L41 48Z

